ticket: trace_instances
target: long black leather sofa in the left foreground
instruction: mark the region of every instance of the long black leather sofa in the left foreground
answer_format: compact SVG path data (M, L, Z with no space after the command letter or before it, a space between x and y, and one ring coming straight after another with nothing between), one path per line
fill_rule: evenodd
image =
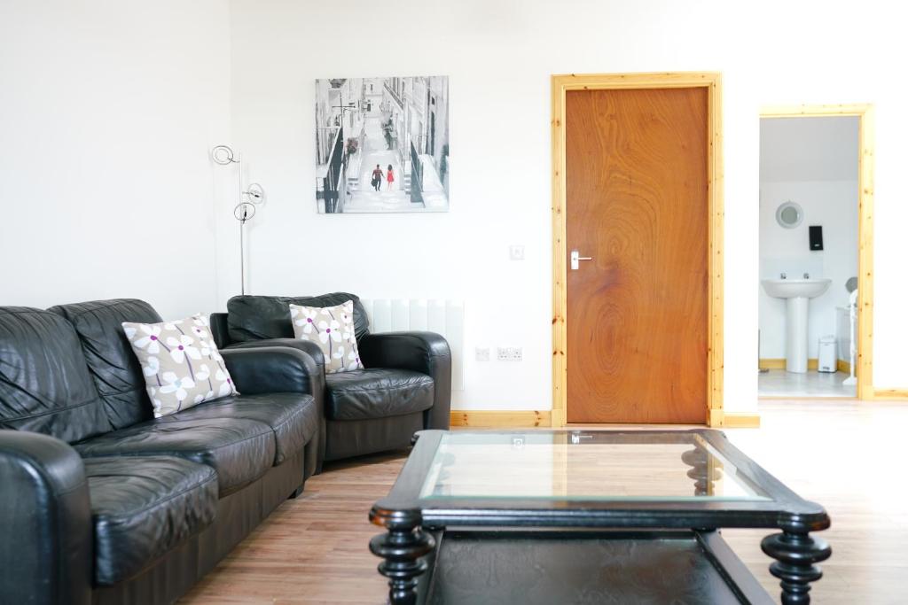
M242 395L154 419L123 321L161 317L0 307L0 602L173 602L315 468L310 356L224 351Z

